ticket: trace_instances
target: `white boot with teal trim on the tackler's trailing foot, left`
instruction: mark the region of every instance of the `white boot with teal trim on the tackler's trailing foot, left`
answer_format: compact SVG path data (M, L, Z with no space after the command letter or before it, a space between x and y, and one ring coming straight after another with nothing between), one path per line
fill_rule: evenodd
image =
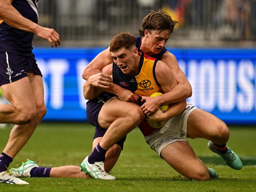
M10 171L15 177L30 177L30 171L35 167L39 167L36 162L27 159L26 162L22 162L20 167L11 168Z

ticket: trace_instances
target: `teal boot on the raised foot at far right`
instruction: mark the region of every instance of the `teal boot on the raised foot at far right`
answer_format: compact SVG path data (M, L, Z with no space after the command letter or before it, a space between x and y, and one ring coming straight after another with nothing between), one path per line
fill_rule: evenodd
M241 168L243 167L243 163L241 162L240 158L235 154L232 149L230 149L228 146L226 147L228 151L223 154L215 149L215 147L213 146L213 142L208 142L208 148L214 153L217 153L220 157L222 157L228 166L235 170L241 170Z

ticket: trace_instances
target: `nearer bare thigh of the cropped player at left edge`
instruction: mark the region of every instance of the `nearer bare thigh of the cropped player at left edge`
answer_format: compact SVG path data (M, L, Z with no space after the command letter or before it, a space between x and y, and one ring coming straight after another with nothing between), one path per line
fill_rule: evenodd
M1 86L6 99L17 110L35 110L36 101L29 78L26 76L15 82Z

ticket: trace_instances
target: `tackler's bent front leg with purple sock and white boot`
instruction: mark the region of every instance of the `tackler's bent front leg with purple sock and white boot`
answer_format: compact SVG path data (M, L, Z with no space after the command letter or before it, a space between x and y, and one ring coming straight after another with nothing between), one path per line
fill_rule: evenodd
M116 179L104 170L107 150L119 142L144 119L145 115L135 103L120 101L116 97L109 99L101 108L98 116L99 126L107 131L91 155L81 163L81 170L95 179ZM114 161L117 158L114 158Z

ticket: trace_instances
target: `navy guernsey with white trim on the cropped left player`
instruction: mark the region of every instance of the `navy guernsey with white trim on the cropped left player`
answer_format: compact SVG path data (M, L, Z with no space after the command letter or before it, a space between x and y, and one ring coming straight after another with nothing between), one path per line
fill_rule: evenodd
M21 15L32 22L38 22L37 11L38 0L13 0L12 6L21 13ZM11 27L0 20L0 51L14 52L17 54L29 56L32 55L33 33L25 32Z

